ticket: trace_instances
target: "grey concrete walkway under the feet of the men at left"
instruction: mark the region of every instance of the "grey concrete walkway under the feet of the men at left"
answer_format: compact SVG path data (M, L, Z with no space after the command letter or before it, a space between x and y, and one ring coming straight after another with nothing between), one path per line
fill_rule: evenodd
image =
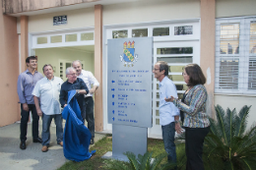
M41 124L40 124L41 125ZM39 126L41 133L41 126ZM27 148L20 149L20 124L0 128L0 169L8 170L55 170L68 161L63 148L56 142L56 128L50 128L51 142L47 152L41 151L41 144L32 142L32 124L28 126ZM95 142L104 135L96 134Z

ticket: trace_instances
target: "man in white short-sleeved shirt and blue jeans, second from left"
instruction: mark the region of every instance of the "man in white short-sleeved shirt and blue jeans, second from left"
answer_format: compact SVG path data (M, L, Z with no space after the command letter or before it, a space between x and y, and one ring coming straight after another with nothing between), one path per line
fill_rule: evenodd
M57 143L63 145L62 116L59 103L60 86L63 81L53 76L53 68L50 64L45 64L42 71L45 77L34 86L32 95L37 114L42 117L41 151L45 152L49 147L52 118L54 118L56 125ZM40 98L40 105L38 98Z

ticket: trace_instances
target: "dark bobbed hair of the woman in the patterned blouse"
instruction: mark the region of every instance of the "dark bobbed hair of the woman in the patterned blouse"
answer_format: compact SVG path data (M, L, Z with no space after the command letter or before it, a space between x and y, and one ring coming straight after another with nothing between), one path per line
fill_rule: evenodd
M197 64L189 64L185 66L185 71L189 76L188 86L205 85L206 77L202 69Z

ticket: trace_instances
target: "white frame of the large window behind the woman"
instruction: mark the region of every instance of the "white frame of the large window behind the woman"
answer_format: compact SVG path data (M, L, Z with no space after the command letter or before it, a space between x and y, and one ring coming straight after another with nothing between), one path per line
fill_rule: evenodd
M249 47L250 47L250 21L256 21L256 16L216 19L216 78L215 92L224 94L256 95L255 89L248 89ZM239 54L220 54L221 25L239 24ZM225 56L226 55L226 56ZM224 59L239 59L238 63L238 89L220 88L220 61Z

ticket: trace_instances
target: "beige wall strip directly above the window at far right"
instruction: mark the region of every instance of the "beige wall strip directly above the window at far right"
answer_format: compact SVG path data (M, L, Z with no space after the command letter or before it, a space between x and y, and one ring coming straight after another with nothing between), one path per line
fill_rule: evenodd
M216 18L255 16L256 0L216 0Z

